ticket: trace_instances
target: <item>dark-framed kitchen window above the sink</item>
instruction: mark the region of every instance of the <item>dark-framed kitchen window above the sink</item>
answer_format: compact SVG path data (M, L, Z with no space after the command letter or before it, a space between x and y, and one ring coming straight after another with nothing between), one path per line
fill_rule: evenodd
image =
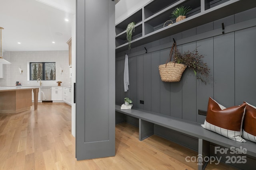
M56 80L55 62L30 63L30 80Z

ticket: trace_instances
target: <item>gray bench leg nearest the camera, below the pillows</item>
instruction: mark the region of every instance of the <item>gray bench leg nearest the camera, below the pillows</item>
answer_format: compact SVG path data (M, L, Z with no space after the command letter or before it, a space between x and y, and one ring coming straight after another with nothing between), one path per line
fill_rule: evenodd
M204 170L208 162L204 161L205 156L210 157L210 142L198 139L198 170Z

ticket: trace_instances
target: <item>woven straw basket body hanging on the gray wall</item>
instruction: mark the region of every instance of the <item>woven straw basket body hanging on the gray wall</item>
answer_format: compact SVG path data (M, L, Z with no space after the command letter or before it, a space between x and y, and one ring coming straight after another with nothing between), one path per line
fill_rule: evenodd
M187 68L184 64L168 62L158 66L161 80L163 82L179 82L182 73Z

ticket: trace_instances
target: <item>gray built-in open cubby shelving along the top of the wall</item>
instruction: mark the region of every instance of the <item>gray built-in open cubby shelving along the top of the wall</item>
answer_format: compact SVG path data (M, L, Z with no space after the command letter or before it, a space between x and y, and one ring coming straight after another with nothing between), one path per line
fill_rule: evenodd
M166 5L166 8L164 8L164 5ZM168 25L167 23L165 27L163 27L164 22L170 20L172 11L182 5L192 8L192 11L186 15L186 19L177 23L175 23L175 19L172 19L174 24ZM153 9L153 7L156 9ZM154 0L142 7L145 11L145 14L143 14L145 16L142 17L146 19L141 21L141 26L139 26L139 23L138 28L141 28L140 33L134 34L131 46L132 48L138 47L255 7L256 0L170 0L169 3L166 0ZM149 14L148 11L150 11L151 14ZM138 12L142 11L138 10ZM120 23L130 23L129 21L134 20L133 15L131 16L132 18L128 17ZM140 19L141 18L138 20ZM126 27L127 25L124 29L126 29ZM128 49L126 32L124 36L123 31L119 32L116 36L116 53Z

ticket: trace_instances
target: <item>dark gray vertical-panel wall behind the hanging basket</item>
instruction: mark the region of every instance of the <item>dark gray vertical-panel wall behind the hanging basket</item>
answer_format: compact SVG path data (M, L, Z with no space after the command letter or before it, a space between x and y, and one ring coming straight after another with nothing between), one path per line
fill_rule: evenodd
M134 107L199 123L203 123L205 116L198 115L198 109L207 110L209 97L226 107L243 101L256 106L256 18L251 17L255 12L254 8L116 54L116 103L122 104L124 97L128 97ZM243 19L246 14L250 18ZM225 34L221 34L222 22ZM214 35L216 30L220 33ZM158 65L166 63L172 38L180 51L197 47L205 56L203 60L210 68L208 84L197 80L188 69L180 82L160 80ZM124 53L129 56L128 92L124 92L123 83ZM144 105L140 100L144 100Z

